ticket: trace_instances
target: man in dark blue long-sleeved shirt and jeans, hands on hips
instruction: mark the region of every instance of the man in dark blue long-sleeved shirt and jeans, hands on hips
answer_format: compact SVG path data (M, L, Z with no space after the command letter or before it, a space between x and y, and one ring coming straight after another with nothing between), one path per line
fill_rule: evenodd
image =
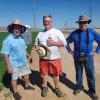
M88 24L91 22L86 16L80 16L76 23L79 24L79 29L73 31L67 40L66 49L74 58L74 65L76 70L76 84L77 89L74 90L74 94L78 95L83 89L83 66L85 68L87 82L89 87L89 93L91 97L98 100L95 89L95 77L94 77L94 61L93 57L100 52L100 35L94 30L88 28ZM98 43L95 51L93 51L93 41ZM70 43L74 43L74 50L70 48Z

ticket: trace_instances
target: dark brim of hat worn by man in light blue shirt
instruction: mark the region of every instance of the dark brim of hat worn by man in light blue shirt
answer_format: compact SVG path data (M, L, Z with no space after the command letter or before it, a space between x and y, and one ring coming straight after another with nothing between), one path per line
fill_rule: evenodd
M24 33L26 31L26 27L24 25L19 25L19 24L10 24L7 26L7 30L9 33L13 33L14 27L18 25L20 27L21 30L21 34Z

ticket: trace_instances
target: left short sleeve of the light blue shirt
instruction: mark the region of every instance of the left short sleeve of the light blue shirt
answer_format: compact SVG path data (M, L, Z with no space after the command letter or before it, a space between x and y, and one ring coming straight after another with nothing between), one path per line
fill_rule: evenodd
M1 53L9 55L9 52L10 52L10 43L7 39L5 39L2 43Z

